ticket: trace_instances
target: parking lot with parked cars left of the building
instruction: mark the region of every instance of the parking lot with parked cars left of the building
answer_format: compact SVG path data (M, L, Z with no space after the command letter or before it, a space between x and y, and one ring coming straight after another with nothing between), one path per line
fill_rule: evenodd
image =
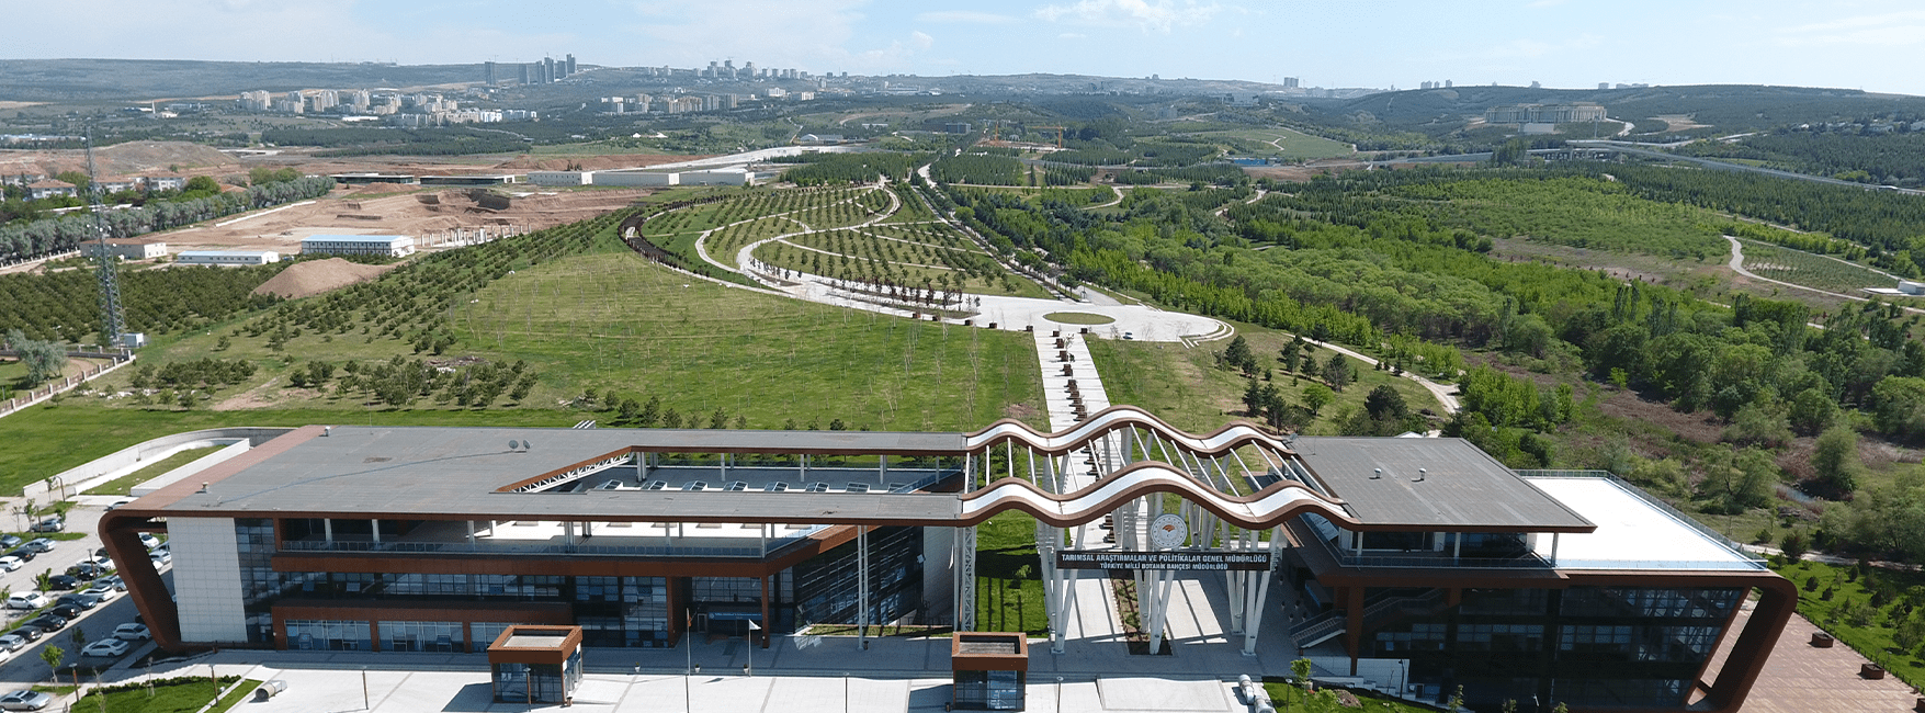
M35 578L40 572L52 570L54 574L62 574L69 567L90 559L94 551L100 549L100 536L92 532L94 524L100 522L100 515L106 511L106 505L117 499L121 497L110 497L110 495L75 497L77 505L67 511L65 532L79 532L85 536L79 540L58 540L52 551L40 553L31 563L23 563L17 570L0 572L0 588L4 588L10 594L35 592L37 590ZM17 499L6 501L8 507L6 515L12 518L0 520L0 530L19 534L23 540L33 540L38 534L21 532L23 526L29 522L13 515L13 511L21 503ZM169 568L171 567L162 567L164 578L167 576ZM81 588L85 588L85 584ZM58 599L64 594L69 592L60 592L60 590L46 592L46 597ZM35 611L6 609L4 615L0 615L4 617L4 624L0 626L4 626L6 630L13 630L21 621L33 619L35 615L37 615ZM75 628L85 632L87 642L100 642L106 638L114 638L114 628L131 622L133 617L135 617L133 599L129 599L125 592L121 592L114 599L104 601L94 609L83 611L77 621L67 622L67 626L64 626L62 630L44 634L38 642L31 642L19 651L4 653L6 661L0 663L0 690L13 690L13 688L25 688L27 684L50 682L50 671L46 667L46 661L40 661L40 651L44 651L46 646L60 646L62 649L65 649L64 657L65 663L79 661L87 665L104 665L112 661L114 665L119 667L133 663L146 649L152 647L152 642L133 642L127 653L114 659L83 659L81 647L73 646L71 638ZM65 680L65 684L71 686L73 682Z

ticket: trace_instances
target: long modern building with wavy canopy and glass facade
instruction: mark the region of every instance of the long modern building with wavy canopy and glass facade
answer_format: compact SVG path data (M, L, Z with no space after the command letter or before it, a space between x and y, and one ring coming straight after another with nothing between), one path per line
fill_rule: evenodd
M1192 436L1130 407L1059 434L306 426L100 532L167 649L479 653L522 624L587 647L749 622L762 646L812 622L970 632L976 526L1007 511L1043 524L1051 651L1086 646L1078 576L1168 592L1145 582L1205 570L1232 632L1215 646L1259 653L1282 626L1284 661L1463 686L1476 709L1732 711L1798 594L1609 474L1513 472L1463 439ZM139 541L156 530L171 597ZM1167 594L1138 605L1155 651Z

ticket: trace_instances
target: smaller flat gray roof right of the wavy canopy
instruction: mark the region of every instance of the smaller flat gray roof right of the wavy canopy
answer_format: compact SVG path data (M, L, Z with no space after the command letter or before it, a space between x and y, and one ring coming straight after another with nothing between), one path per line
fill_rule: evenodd
M1311 476L1367 524L1596 530L1582 515L1461 437L1299 437L1294 449ZM1426 472L1419 474L1419 468Z

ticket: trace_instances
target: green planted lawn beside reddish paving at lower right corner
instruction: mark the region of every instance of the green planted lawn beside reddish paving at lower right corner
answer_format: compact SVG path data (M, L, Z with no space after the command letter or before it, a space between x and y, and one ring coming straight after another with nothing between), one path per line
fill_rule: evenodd
M1919 655L1921 646L1913 644L1906 649L1892 640L1898 634L1898 622L1906 619L1906 607L1925 605L1925 601L1915 601L1917 597L1904 594L1913 586L1925 584L1925 572L1871 568L1871 586L1886 590L1886 595L1877 597L1875 603L1873 592L1867 588L1867 576L1856 567L1794 563L1773 565L1773 570L1798 584L1800 615L1873 663L1883 665L1898 680L1912 686L1925 684L1925 657Z

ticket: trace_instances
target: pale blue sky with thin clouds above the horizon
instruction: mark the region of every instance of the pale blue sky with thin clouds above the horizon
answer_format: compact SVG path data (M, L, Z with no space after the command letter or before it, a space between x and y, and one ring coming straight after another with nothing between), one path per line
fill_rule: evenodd
M755 62L859 75L1084 73L1303 87L1798 85L1925 94L1925 4L1569 0L15 2L0 58Z

